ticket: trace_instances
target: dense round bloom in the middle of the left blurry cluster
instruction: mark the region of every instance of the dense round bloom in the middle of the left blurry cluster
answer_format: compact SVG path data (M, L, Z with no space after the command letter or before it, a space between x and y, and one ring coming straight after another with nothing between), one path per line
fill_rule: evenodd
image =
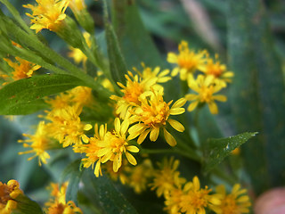
M64 109L56 109L47 111L45 119L52 121L46 126L48 127L51 136L58 140L63 147L71 144L82 144L88 142L88 137L84 131L92 128L90 124L83 124L79 118L82 107L73 105L66 106Z

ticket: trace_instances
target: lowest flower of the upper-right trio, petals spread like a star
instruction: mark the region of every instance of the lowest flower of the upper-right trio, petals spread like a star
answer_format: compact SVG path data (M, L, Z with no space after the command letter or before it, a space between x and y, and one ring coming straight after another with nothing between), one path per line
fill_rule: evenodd
M196 80L194 78L189 78L188 86L198 93L198 95L185 95L187 100L193 101L189 105L187 109L188 111L193 111L199 103L207 103L211 113L216 114L218 109L215 101L226 101L226 96L224 95L213 95L224 87L224 85L214 82L213 76L207 76L205 78L203 75L199 75Z

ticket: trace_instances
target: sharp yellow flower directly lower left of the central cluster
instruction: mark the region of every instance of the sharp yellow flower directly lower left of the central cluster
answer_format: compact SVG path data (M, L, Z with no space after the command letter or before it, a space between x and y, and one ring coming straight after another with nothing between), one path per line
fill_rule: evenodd
M102 163L106 161L113 161L113 170L117 172L122 165L122 154L125 153L127 161L132 165L136 165L134 156L129 152L139 152L139 149L134 145L129 145L128 141L132 138L126 137L126 132L129 127L128 120L122 123L118 118L114 121L115 129L110 132L105 128L100 128L99 135L102 141L98 141L98 146L101 149L98 151L98 156L102 157Z

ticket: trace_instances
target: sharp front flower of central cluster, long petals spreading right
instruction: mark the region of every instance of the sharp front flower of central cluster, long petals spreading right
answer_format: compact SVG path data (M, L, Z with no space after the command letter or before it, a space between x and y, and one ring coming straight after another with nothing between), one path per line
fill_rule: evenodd
M132 138L139 136L137 143L142 144L145 137L150 133L151 141L156 141L159 137L160 128L163 129L167 144L175 146L176 140L165 128L167 122L179 132L184 131L183 125L175 119L169 119L170 115L182 114L185 110L182 108L186 103L184 98L176 101L170 108L169 103L164 102L163 96L159 92L152 90L151 95L139 98L141 106L135 108L130 117L131 123L136 123L129 128L128 132Z

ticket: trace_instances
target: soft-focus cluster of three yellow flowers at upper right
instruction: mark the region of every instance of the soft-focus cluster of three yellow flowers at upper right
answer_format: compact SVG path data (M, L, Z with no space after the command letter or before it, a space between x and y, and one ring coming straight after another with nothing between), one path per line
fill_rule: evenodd
M209 57L206 50L195 53L189 49L185 41L181 42L178 50L179 54L168 53L167 61L176 64L172 75L176 76L180 73L180 78L187 80L189 88L197 93L185 95L185 98L192 102L188 111L193 111L199 103L207 103L211 113L216 114L218 109L215 101L225 102L226 97L213 94L232 82L232 71L228 71L226 66L219 62L217 54L214 60ZM197 78L196 74L198 74Z

